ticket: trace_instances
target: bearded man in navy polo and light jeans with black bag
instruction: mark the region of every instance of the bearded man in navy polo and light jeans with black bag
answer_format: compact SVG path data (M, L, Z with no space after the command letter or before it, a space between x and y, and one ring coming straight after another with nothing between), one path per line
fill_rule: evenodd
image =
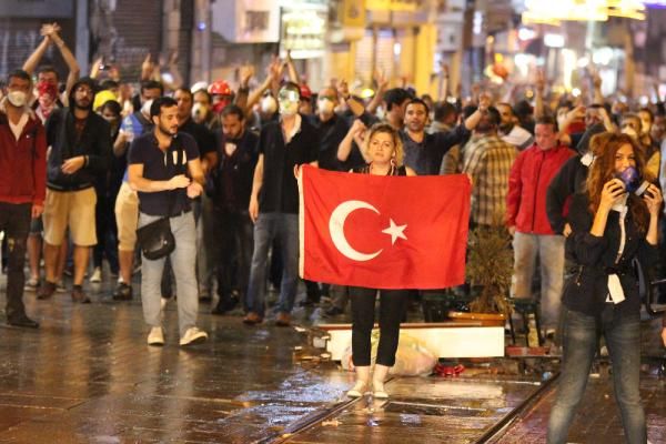
M178 102L158 98L150 108L154 128L132 142L129 158L130 185L139 194L139 226L169 218L175 249L169 259L178 285L180 345L205 341L196 327L196 228L191 200L203 191L203 171L196 142L178 132ZM141 301L150 325L149 345L163 345L160 283L167 258L142 258Z

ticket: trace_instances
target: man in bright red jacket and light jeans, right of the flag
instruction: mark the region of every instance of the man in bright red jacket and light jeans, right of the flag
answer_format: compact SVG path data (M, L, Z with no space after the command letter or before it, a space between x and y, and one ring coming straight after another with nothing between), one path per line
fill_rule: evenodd
M541 307L546 336L554 335L559 319L564 283L564 236L551 229L546 191L551 180L575 152L557 141L553 118L535 124L535 144L516 158L508 179L506 225L514 236L514 297L532 296L532 278L538 255Z

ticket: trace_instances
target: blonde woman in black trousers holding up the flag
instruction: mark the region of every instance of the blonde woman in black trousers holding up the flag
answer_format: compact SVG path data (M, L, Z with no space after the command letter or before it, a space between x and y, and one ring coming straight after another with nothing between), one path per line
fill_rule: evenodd
M403 145L400 134L387 123L373 125L363 143L363 157L369 161L351 170L354 173L374 175L416 175L403 165ZM374 326L377 289L351 286L352 301L352 361L356 371L356 384L347 392L351 397L362 396L370 390L371 333ZM372 377L374 397L386 398L384 381L395 364L400 323L407 304L407 290L379 290L380 292L380 344Z

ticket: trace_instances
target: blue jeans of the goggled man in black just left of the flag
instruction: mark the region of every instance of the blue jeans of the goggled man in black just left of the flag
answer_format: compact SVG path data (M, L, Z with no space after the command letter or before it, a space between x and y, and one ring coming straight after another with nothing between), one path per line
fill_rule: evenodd
M299 215L260 213L254 224L254 252L248 284L248 310L263 317L266 293L266 261L273 240L280 243L282 254L282 284L278 312L291 313L299 284Z

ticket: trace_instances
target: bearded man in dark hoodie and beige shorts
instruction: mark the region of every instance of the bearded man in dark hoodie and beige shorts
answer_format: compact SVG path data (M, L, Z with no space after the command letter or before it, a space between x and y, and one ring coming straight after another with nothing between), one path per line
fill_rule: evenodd
M69 228L74 243L72 300L90 302L82 284L90 248L97 244L93 185L95 175L107 170L111 158L109 123L92 112L94 88L92 79L77 81L70 92L70 108L54 111L47 121L51 152L43 215L46 280L38 299L49 299L56 291L58 250Z

